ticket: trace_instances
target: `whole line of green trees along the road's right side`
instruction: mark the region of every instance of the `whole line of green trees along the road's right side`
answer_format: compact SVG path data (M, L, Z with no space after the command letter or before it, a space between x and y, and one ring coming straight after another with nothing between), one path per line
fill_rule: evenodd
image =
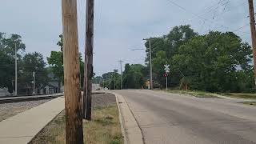
M170 64L168 86L172 89L254 91L252 49L248 42L242 42L233 32L209 31L200 35L190 25L174 26L169 34L149 38L145 43L145 66L126 64L123 88L145 87L149 80L149 41L154 87L166 85L164 65ZM103 74L102 82L113 85L110 75L112 72Z

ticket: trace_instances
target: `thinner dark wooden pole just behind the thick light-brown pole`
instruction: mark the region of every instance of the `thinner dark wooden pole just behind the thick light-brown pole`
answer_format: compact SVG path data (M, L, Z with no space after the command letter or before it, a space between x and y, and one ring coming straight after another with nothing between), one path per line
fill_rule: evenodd
M91 119L91 94L94 69L94 0L86 1L86 54L85 54L85 74L84 74L84 99L86 100L86 119Z

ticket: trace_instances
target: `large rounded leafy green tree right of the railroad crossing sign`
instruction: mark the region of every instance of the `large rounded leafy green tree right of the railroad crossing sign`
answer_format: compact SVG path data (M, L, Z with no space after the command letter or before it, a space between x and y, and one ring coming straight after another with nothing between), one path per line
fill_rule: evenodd
M210 32L180 46L172 65L186 75L191 89L238 92L246 89L242 85L252 86L242 82L250 74L251 55L248 43L234 33Z

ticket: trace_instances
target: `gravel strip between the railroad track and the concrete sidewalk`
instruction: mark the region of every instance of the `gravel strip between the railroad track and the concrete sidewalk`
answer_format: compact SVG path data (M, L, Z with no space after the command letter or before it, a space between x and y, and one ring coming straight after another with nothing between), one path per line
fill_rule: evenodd
M2 103L0 104L0 122L10 118L23 111L30 110L34 106L41 105L42 103L49 102L50 99L43 99L37 101L28 102L13 102L13 103Z

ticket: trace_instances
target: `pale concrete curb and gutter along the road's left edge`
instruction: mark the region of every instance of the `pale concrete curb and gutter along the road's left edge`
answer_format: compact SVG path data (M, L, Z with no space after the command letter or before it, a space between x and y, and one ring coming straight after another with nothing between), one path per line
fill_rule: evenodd
M139 128L134 114L130 111L130 108L120 94L108 91L110 94L114 94L117 99L118 110L119 110L119 121L122 128L122 134L124 136L125 144L143 144L142 130Z

